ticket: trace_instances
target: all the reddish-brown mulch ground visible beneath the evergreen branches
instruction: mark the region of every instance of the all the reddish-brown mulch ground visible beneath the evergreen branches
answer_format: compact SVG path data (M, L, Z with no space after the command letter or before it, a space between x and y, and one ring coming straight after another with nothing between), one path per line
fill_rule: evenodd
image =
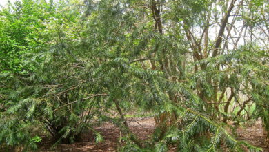
M155 129L155 122L152 117L145 119L132 118L128 120L128 125L133 133L141 140L148 140L153 130ZM119 147L120 132L114 125L106 123L97 128L97 131L103 135L103 142L95 143L93 135L84 134L81 142L74 144L60 144L56 149L50 149L52 145L50 140L43 139L39 145L40 152L51 151L92 151L92 152L105 152L117 151ZM254 146L261 147L264 152L269 152L269 141L266 141L263 135L261 123L258 122L250 127L237 129L237 139L244 140ZM170 151L176 151L175 147L170 147Z

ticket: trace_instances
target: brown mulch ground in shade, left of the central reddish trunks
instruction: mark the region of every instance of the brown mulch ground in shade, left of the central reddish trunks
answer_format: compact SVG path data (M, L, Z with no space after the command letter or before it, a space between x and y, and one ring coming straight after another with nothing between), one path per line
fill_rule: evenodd
M150 138L150 135L153 133L155 128L155 122L152 118L146 119L130 119L128 121L128 126L130 126L130 130L132 133L135 133L137 137L141 140L147 140ZM41 152L46 151L92 151L92 152L104 152L104 151L117 151L117 147L120 146L119 137L120 132L119 129L114 127L112 124L103 124L102 126L96 128L97 131L101 132L103 136L103 142L97 144L94 142L93 135L84 135L81 142L77 142L74 144L61 144L57 146L57 149L49 149L52 142L50 140L46 140L42 142L39 149Z

